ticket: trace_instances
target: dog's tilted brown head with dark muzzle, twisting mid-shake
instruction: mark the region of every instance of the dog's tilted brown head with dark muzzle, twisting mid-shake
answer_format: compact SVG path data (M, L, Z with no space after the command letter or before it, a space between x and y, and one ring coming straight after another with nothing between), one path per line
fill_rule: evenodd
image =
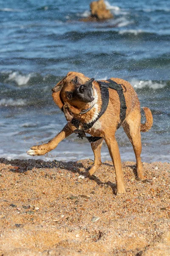
M52 89L54 102L59 108L67 103L81 111L94 100L93 81L94 78L89 79L82 73L69 72Z

